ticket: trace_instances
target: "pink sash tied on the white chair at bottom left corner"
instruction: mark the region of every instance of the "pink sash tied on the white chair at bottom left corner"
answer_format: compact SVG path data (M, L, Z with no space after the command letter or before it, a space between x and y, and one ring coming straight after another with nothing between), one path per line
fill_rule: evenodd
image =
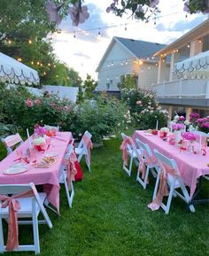
M2 208L9 206L9 227L6 250L13 251L19 246L19 230L18 230L18 210L20 209L17 198L28 198L34 196L34 191L29 190L23 193L16 194L11 198L5 195L0 195Z

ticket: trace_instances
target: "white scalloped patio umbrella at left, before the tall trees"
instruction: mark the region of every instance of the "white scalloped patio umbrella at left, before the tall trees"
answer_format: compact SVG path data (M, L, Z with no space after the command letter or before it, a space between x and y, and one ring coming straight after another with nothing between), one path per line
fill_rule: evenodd
M0 81L20 84L39 84L37 71L0 52Z

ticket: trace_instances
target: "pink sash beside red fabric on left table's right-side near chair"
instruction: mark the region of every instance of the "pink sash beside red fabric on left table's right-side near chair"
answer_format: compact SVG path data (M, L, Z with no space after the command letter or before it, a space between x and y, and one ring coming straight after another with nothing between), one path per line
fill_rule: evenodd
M77 174L77 169L75 167L76 161L78 161L78 159L74 151L72 151L69 159L64 162L66 165L67 187L69 190L71 190L71 181L74 182L74 176Z

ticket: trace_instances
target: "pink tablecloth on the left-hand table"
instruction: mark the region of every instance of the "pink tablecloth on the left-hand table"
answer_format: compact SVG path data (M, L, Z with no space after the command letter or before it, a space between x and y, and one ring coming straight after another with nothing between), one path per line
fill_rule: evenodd
M32 164L28 164L28 171L18 175L4 175L4 170L11 167L17 159L17 152L7 156L0 162L0 184L24 184L34 182L35 185L43 185L43 190L47 193L50 203L59 210L59 182L58 171L63 162L67 145L73 136L71 132L58 132L58 136L51 138L50 148L44 152L37 152L37 161L43 159L44 154L56 153L57 161L49 168L36 168ZM24 142L19 146L23 152L28 148L28 142Z

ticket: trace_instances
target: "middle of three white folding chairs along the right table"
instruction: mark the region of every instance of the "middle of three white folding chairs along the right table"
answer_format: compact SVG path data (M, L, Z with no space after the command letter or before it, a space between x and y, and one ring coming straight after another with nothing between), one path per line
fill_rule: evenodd
M148 144L144 144L139 139L135 139L135 142L138 148L141 150L141 164L145 165L145 174L143 177L143 173L141 173L140 166L137 171L136 181L140 182L143 185L143 190L146 189L146 185L148 182L149 172L151 170L152 175L156 178L158 175L158 165L156 164L156 160L154 155L152 154L151 148ZM143 158L143 159L142 159ZM143 168L143 167L142 167ZM142 174L142 177L141 177Z

